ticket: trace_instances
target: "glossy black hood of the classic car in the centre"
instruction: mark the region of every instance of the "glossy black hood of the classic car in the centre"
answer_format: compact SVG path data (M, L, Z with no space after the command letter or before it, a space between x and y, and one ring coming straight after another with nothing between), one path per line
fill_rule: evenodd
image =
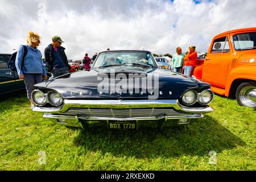
M36 88L56 90L64 98L70 99L136 100L177 99L188 89L209 86L205 82L172 71L134 66L96 68L69 73L35 85Z

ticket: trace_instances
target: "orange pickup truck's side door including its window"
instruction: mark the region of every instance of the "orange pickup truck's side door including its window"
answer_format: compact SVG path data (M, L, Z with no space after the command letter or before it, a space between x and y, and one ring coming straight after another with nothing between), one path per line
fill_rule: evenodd
M203 65L203 81L225 88L228 65L232 60L230 46L228 35L213 40Z

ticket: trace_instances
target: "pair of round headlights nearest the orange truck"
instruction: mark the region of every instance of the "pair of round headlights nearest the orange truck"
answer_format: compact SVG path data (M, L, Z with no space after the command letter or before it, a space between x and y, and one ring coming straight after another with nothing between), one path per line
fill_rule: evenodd
M189 90L182 97L182 102L185 105L193 105L199 102L202 105L207 105L213 100L212 90L204 90L203 92L197 93L194 90Z

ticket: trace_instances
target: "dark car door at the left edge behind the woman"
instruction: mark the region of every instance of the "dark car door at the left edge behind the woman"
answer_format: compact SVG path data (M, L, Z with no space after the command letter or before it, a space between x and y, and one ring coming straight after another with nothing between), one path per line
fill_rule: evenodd
M0 95L14 90L14 72L8 68L6 56L0 55Z

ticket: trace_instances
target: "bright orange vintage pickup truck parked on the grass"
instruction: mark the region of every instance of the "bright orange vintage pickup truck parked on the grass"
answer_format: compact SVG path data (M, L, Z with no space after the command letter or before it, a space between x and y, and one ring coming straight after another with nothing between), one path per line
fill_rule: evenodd
M211 84L213 92L256 108L256 27L214 36L193 76Z

